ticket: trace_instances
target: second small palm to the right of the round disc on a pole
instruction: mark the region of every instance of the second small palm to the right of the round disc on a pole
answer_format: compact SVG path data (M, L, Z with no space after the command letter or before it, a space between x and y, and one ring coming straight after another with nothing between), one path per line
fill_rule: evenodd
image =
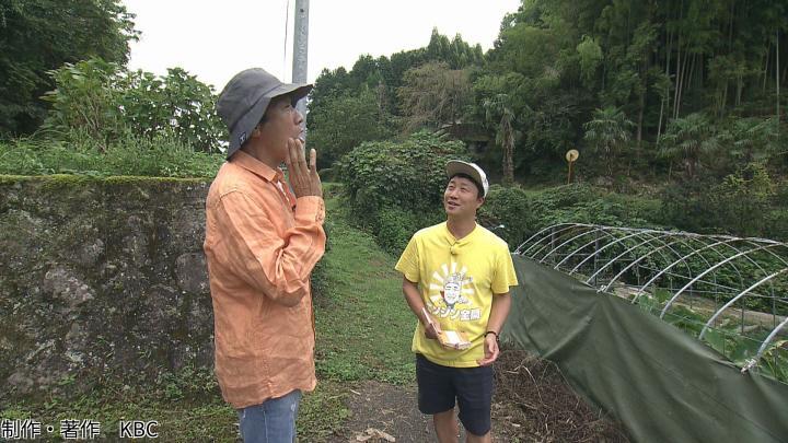
M681 160L687 178L695 178L700 159L719 149L716 128L702 113L676 118L659 139L659 154L665 159Z

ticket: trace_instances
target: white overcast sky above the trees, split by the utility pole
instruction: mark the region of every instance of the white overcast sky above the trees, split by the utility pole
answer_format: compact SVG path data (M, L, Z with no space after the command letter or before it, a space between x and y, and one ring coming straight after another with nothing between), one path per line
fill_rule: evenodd
M289 0L124 0L137 14L140 40L131 44L129 68L165 74L181 67L217 92L236 72L265 68L290 81L292 21ZM520 0L311 0L309 74L323 68L352 68L358 57L391 56L427 46L433 27L450 39L460 33L484 50L498 36L501 19Z

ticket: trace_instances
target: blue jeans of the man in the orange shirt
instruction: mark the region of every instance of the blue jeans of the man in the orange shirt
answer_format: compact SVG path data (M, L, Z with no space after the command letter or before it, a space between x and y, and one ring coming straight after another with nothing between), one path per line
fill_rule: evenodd
M244 443L292 443L301 390L237 410Z

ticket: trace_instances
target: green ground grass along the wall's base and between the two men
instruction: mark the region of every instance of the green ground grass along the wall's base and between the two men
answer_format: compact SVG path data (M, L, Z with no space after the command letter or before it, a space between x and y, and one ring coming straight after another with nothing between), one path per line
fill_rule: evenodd
M315 300L316 366L318 387L304 396L299 412L299 439L321 442L349 417L344 404L349 386L376 380L409 383L414 359L409 351L415 319L402 298L395 258L374 240L350 228L327 184L331 249L325 288ZM38 398L0 403L3 419L32 419L55 427L44 436L59 441L60 420L101 422L103 435L117 438L119 420L157 420L160 440L167 442L235 442L237 417L223 403L210 368L184 368L149 385L109 381L100 390L77 397Z

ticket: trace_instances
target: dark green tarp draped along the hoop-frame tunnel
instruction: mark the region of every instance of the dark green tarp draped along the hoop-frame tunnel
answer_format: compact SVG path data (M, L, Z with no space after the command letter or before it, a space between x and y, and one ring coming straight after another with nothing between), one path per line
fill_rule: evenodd
M614 295L513 256L503 339L558 364L638 442L788 442L788 385L742 374L694 337Z

